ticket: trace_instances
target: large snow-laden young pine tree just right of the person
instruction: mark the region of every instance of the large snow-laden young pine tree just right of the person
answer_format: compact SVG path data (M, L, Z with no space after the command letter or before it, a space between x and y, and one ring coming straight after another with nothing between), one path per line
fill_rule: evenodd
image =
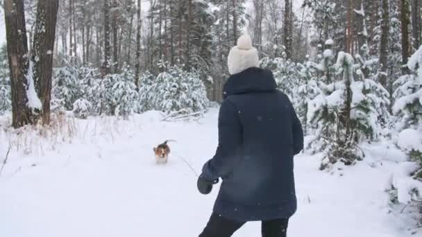
M337 161L351 165L364 156L357 145L377 140L387 125L389 93L375 82L378 76L376 59L364 60L365 57L357 54L355 60L350 54L340 52L334 65L324 64L332 62L326 60L332 58L327 50L321 58L319 64L308 62L316 75L320 72L312 90L319 94L312 94L314 98L307 103L308 134L314 134L308 148L313 152L325 152L321 169L329 168ZM330 83L327 83L325 73L328 68L335 69L335 73L330 73ZM363 73L364 69L367 74Z

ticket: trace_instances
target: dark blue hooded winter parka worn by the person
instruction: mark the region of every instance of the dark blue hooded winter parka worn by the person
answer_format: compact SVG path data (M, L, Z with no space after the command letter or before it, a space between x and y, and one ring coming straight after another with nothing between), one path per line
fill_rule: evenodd
M303 130L271 71L256 67L228 78L219 111L217 152L203 166L223 179L214 212L237 221L290 218L296 211L293 157Z

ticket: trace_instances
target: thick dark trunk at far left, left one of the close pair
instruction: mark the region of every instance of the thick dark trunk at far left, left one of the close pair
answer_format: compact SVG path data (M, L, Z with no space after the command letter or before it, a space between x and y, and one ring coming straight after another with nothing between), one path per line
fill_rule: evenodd
M12 89L12 126L20 128L33 124L35 115L28 108L28 39L26 38L25 13L23 0L5 0L4 15L10 87Z

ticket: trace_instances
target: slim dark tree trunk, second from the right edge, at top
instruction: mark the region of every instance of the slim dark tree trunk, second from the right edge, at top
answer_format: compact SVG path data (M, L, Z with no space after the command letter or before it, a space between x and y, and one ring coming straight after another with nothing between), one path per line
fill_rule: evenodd
M402 62L403 62L403 73L407 73L407 60L410 57L410 19L409 19L409 1L400 0L400 19L401 19L401 44L402 44Z

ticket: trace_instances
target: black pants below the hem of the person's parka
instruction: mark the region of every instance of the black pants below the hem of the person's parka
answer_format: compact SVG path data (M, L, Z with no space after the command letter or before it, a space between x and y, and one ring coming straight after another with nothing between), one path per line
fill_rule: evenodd
M230 237L246 222L227 220L216 213L212 213L207 226L199 237ZM263 221L261 226L262 237L286 237L289 219Z

